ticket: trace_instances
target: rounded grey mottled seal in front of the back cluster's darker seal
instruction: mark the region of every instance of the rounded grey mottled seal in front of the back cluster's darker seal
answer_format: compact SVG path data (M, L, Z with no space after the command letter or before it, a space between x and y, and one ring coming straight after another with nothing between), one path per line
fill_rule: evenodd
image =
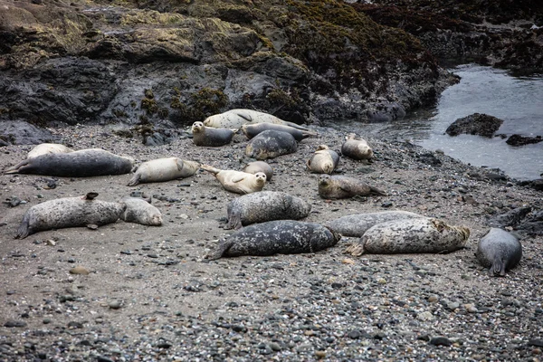
M265 130L252 138L245 148L245 156L256 159L275 158L296 152L298 144L290 133Z

